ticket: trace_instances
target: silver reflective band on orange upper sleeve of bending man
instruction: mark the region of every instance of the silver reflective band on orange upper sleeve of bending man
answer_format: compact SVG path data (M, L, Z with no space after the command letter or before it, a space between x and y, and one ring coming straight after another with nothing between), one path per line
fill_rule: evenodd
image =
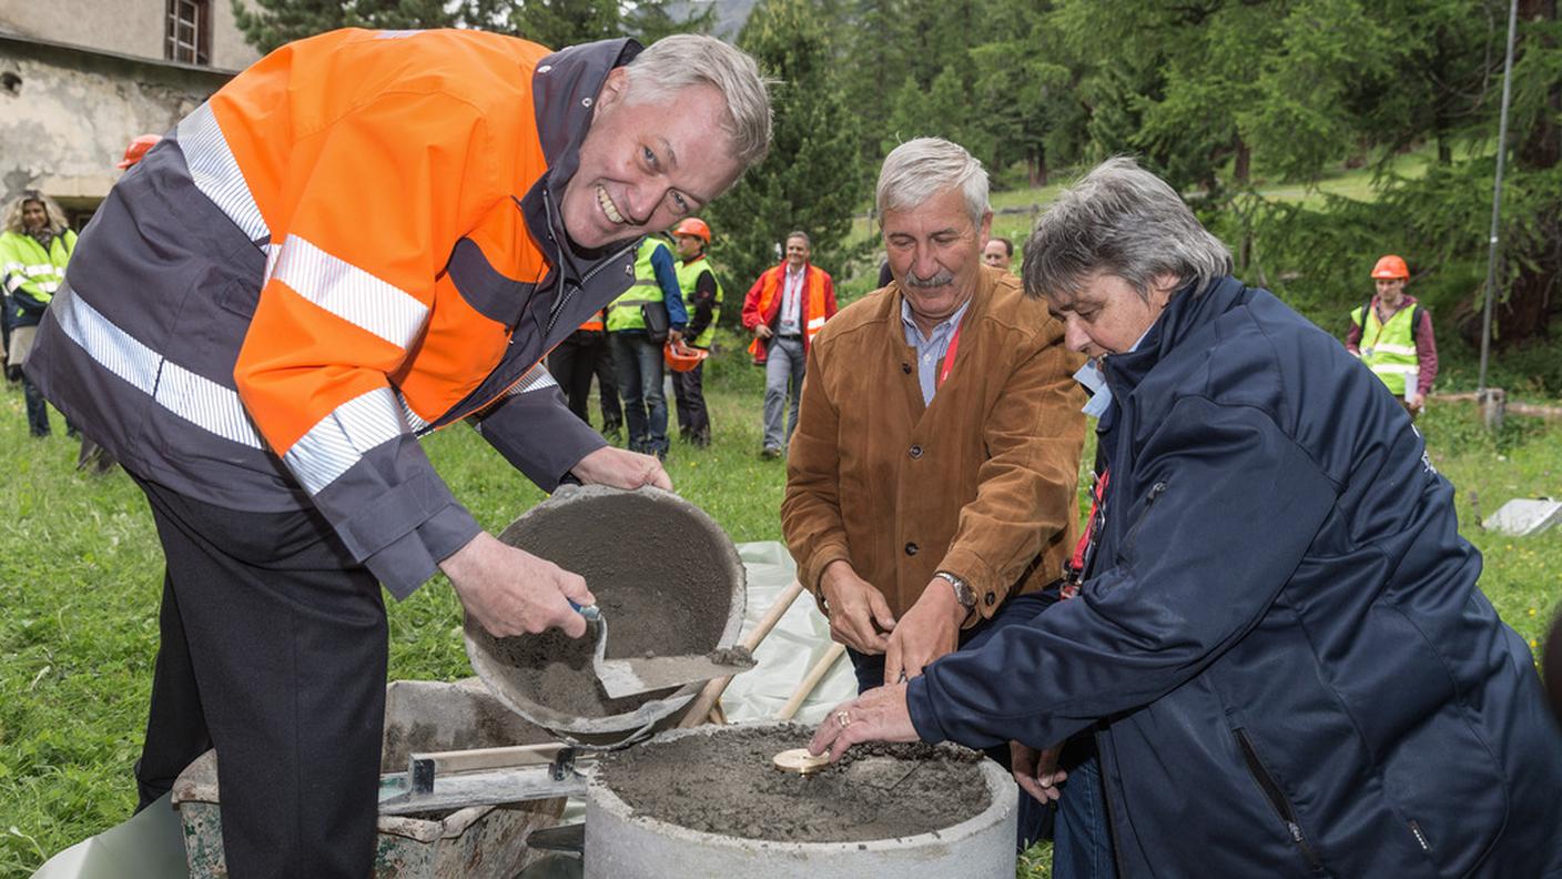
M411 347L428 319L428 307L412 294L297 235L289 235L269 261L270 278L397 347Z

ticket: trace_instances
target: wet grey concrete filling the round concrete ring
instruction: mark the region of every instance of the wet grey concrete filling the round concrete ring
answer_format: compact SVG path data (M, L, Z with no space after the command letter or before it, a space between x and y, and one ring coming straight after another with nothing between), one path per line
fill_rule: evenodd
M637 815L709 834L850 843L953 827L992 804L981 754L950 744L859 744L809 776L773 757L814 730L723 727L606 755L598 777ZM909 773L909 774L908 774Z

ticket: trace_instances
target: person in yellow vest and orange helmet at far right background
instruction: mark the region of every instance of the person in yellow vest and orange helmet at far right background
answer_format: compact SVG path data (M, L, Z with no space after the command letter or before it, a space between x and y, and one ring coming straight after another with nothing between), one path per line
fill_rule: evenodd
M1404 292L1410 269L1400 257L1390 253L1378 260L1371 277L1378 294L1351 311L1345 349L1359 357L1415 418L1437 379L1432 316Z

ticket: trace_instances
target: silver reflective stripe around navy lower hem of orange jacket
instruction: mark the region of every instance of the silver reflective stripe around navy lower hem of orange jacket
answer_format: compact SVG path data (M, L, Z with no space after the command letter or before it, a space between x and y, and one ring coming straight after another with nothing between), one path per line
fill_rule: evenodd
M223 440L264 449L237 391L197 375L136 341L70 288L50 303L59 328L103 369L130 382L173 414Z

